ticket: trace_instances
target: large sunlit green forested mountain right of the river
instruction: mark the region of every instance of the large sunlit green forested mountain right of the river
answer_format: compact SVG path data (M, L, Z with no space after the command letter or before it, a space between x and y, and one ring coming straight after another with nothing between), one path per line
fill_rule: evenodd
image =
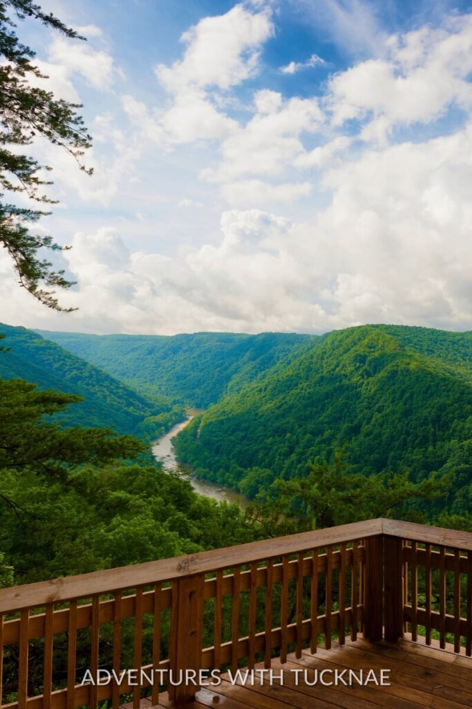
M202 476L254 495L344 444L353 473L450 470L454 489L470 495L472 333L330 333L195 418L176 447Z

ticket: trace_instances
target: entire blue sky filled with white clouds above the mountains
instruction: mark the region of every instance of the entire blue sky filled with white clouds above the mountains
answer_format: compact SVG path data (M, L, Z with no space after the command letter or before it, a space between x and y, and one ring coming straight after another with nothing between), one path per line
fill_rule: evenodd
M44 85L94 174L35 143L38 229L76 281L41 306L0 252L0 320L88 333L472 329L472 4L43 0ZM24 202L25 203L25 202Z

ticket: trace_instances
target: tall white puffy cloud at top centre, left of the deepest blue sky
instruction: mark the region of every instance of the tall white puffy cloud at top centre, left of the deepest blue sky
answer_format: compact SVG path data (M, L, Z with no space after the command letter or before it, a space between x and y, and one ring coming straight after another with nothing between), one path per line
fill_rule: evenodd
M252 11L238 4L223 15L202 18L180 38L182 59L155 67L170 105L149 113L126 96L125 111L162 147L222 140L238 125L222 110L226 92L257 72L260 48L272 32L268 7Z

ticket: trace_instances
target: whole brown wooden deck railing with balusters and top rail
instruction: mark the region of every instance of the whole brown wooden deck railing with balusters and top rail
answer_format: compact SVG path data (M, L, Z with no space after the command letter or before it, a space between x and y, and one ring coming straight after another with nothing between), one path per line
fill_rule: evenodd
M358 632L405 632L471 655L472 535L393 520L305 532L0 590L0 705L74 709L159 703L186 670L253 668ZM83 681L108 670L121 681ZM86 670L90 674L86 674Z

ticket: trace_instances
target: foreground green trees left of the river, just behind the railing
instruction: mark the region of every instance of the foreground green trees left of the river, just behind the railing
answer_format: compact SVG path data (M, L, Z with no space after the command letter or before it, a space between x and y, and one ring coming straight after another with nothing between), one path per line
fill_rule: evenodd
M217 505L164 473L139 440L52 423L52 415L76 401L28 381L0 380L0 583L253 538L238 507Z

